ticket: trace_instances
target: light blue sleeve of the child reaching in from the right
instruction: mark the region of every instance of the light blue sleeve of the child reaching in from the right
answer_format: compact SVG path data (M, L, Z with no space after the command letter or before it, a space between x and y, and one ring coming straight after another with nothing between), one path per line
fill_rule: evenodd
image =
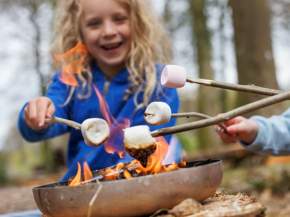
M240 142L250 151L264 155L290 155L290 108L281 115L250 118L258 124L258 134L251 144Z

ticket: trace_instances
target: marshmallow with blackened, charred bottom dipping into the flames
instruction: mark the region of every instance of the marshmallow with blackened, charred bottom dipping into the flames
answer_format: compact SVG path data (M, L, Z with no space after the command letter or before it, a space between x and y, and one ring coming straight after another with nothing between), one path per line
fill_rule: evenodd
M124 130L124 147L131 157L139 160L143 167L148 157L156 150L155 138L147 125L128 127Z

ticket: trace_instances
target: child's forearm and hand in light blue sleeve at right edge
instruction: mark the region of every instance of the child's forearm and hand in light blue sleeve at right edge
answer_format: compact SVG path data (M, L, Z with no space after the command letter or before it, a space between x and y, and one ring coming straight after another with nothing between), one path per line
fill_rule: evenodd
M242 146L259 154L290 155L290 108L270 118L239 116L223 123L230 135L218 125L215 130L225 143L239 139Z

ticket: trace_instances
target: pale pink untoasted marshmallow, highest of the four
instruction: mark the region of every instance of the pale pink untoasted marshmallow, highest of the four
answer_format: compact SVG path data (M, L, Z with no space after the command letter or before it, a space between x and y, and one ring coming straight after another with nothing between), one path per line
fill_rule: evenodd
M161 84L164 87L179 88L186 82L186 70L182 66L167 65L161 74Z

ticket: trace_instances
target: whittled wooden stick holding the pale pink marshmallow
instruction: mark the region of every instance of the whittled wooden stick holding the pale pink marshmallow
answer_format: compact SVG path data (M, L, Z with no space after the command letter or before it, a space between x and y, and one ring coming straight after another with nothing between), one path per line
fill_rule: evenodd
M272 90L272 89L268 89L264 87L257 87L254 84L240 85L240 84L231 84L231 83L214 81L214 80L191 78L191 77L187 77L186 82L189 82L191 84L193 83L202 84L202 85L210 86L210 87L218 87L218 88L223 88L227 90L236 90L236 91L242 91L242 92L248 92L248 93L256 93L256 94L265 95L265 96L273 96L273 95L277 95L284 92L282 90Z

